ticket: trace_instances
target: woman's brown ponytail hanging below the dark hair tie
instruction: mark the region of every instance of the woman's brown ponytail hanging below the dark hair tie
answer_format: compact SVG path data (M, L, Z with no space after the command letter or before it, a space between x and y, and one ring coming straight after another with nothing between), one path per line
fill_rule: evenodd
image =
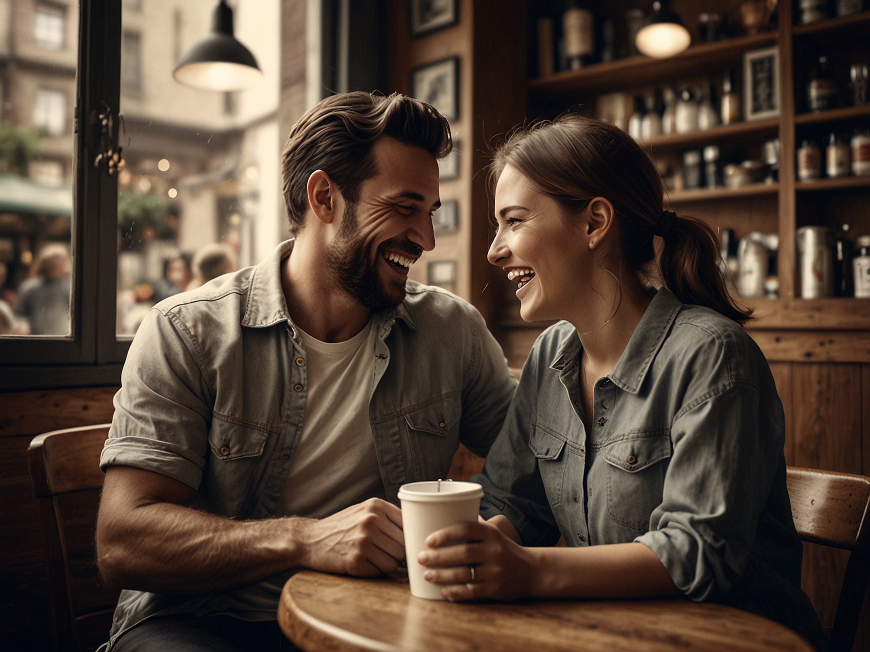
M728 292L719 243L706 223L666 210L655 235L665 241L659 254L661 279L682 303L706 306L741 324L753 318L752 310L740 309Z

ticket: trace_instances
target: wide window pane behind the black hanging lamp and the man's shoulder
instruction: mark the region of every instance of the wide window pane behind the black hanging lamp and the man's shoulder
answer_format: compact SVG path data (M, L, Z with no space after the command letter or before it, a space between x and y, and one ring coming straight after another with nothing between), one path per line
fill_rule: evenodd
M125 2L118 172L117 334L158 301L258 263L287 232L278 130L279 0L230 3L264 77L196 90L172 77L216 0ZM300 62L304 66L305 62Z

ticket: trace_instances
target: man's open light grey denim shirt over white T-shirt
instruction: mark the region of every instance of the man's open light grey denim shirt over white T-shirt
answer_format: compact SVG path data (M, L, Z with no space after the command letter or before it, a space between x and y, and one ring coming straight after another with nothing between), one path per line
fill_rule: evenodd
M291 249L282 243L258 266L151 309L124 364L102 469L127 465L184 482L196 489L191 506L211 514L274 516L307 396L305 349L281 287ZM476 309L443 289L406 287L403 303L372 316L369 417L386 496L397 504L405 482L447 476L459 442L485 456L516 388ZM218 599L124 591L112 640L143 618L199 613Z

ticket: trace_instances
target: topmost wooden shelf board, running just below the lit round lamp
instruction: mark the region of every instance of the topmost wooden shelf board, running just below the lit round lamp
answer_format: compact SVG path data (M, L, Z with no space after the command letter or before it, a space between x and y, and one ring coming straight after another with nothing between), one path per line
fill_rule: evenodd
M539 96L592 95L608 90L626 90L639 85L672 81L679 77L709 74L738 61L746 50L776 43L776 32L751 37L729 38L716 43L699 43L667 59L626 57L610 63L593 63L579 70L557 72L532 79L529 90Z

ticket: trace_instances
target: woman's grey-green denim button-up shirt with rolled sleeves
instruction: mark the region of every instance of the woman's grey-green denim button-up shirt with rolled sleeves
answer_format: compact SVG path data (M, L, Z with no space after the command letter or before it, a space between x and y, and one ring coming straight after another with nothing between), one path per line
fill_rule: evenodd
M800 590L785 418L753 339L659 289L612 372L580 401L582 347L546 329L483 473L481 513L524 545L641 542L677 588L797 629L823 646Z

